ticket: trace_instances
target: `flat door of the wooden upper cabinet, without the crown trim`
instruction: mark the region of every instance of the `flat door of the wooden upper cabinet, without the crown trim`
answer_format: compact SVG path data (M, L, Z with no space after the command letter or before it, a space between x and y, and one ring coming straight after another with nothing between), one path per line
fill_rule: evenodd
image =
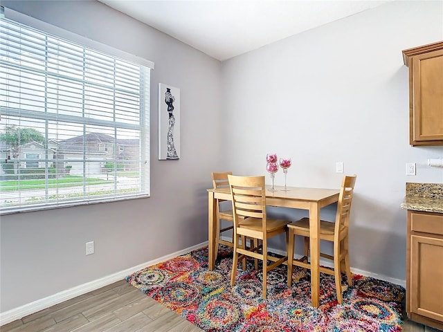
M443 140L443 50L415 55L413 68L413 138Z

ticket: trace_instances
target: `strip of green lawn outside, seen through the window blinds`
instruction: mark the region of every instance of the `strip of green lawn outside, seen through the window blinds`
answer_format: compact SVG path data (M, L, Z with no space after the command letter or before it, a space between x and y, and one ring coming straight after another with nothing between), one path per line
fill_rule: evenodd
M87 178L87 185L100 185L101 183L113 183L114 181L106 181L101 178ZM82 176L66 175L62 178L48 179L49 188L57 187L78 187L83 185ZM24 189L44 189L46 181L38 180L21 180L21 181L0 181L0 191L24 190Z

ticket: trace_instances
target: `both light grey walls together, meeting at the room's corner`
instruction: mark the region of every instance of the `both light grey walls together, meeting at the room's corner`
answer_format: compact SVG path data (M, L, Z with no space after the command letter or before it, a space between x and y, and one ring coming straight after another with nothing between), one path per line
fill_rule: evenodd
M223 64L96 1L2 5L146 57L155 69L152 197L3 216L0 312L206 241L210 172L266 174L271 151L293 158L289 185L338 187L336 161L358 174L351 264L405 278L405 183L443 182L442 169L426 166L443 147L408 145L401 50L443 39L441 1L388 3ZM159 82L181 89L177 161L156 156ZM418 163L417 176L404 175L406 162ZM84 255L87 241L94 255Z

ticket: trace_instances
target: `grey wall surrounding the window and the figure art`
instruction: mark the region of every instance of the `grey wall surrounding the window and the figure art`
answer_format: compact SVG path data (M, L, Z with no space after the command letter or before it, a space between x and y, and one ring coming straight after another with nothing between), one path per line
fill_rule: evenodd
M206 189L221 160L212 125L220 113L220 62L98 1L1 5L145 57L155 69L150 199L2 216L0 312L207 241ZM181 89L180 160L158 160L159 82ZM94 255L85 255L87 241L95 241Z

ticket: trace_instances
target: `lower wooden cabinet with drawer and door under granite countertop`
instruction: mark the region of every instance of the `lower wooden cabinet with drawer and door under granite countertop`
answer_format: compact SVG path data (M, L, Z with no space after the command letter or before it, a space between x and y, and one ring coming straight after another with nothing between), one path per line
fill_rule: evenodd
M408 210L406 312L443 329L443 214Z

